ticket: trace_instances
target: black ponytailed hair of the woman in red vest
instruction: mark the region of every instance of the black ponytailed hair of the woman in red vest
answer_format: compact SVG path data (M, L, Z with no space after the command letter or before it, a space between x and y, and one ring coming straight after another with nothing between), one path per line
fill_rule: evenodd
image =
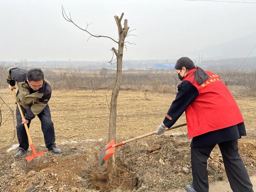
M182 67L185 67L187 70L196 68L193 82L196 79L198 85L201 85L208 78L210 78L210 76L202 68L195 66L194 62L188 57L182 57L179 60L177 60L175 64L175 69L180 70L182 69Z

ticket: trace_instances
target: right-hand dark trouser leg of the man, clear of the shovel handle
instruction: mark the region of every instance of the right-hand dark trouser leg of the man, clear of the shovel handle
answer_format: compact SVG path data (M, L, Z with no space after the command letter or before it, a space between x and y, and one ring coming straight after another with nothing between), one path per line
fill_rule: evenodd
M47 104L40 114L37 115L41 121L42 131L44 134L44 142L48 149L55 147L55 132L51 119L51 112Z

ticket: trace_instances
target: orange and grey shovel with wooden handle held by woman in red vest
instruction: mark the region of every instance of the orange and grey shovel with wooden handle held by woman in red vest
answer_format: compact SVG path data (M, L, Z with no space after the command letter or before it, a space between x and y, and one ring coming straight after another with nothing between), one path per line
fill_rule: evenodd
M175 129L175 128L178 128L178 127L183 127L185 125L187 125L187 123L182 123L182 124L167 128L165 131ZM144 137L147 137L147 136L150 136L150 135L154 135L154 134L156 134L156 131L151 132L151 133L147 133L145 135L141 135L141 136L138 136L138 137L134 137L132 139L129 139L129 140L117 143L117 144L115 144L115 141L113 139L100 152L100 166L102 167L102 165L110 158L110 156L112 156L112 154L115 153L115 147L124 145L124 144L132 142L132 141L136 141L138 139L141 139L141 138L144 138Z

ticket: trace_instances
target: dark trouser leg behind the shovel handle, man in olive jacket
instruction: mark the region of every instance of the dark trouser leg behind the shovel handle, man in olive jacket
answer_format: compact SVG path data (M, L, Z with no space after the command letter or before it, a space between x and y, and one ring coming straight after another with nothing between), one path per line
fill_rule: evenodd
M20 106L22 108L23 114L26 113L26 109L23 106ZM19 142L19 148L24 149L25 151L28 150L29 143L28 143L28 135L25 129L25 126L22 123L22 117L19 112L18 105L16 107L16 120L17 120L17 125L16 125L16 132L17 132L17 138ZM28 127L30 125L30 122L28 122Z

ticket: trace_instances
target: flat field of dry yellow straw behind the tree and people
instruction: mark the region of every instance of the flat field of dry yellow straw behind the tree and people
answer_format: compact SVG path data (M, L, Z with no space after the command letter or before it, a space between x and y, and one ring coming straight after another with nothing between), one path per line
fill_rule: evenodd
M110 103L111 90L106 91ZM13 94L8 89L1 97L14 107ZM117 102L117 140L128 139L144 133L155 131L168 111L174 94L120 91ZM256 98L235 98L244 116L247 129L255 129ZM56 143L63 141L83 141L85 139L108 138L109 107L104 90L54 90L49 101L52 120L55 127ZM5 108L6 109L6 108ZM3 111L3 119L9 114ZM185 115L177 124L185 122ZM36 117L30 125L33 142L44 144L40 121ZM186 132L186 127L171 132ZM0 129L0 147L16 144L12 140L13 125L9 118Z

